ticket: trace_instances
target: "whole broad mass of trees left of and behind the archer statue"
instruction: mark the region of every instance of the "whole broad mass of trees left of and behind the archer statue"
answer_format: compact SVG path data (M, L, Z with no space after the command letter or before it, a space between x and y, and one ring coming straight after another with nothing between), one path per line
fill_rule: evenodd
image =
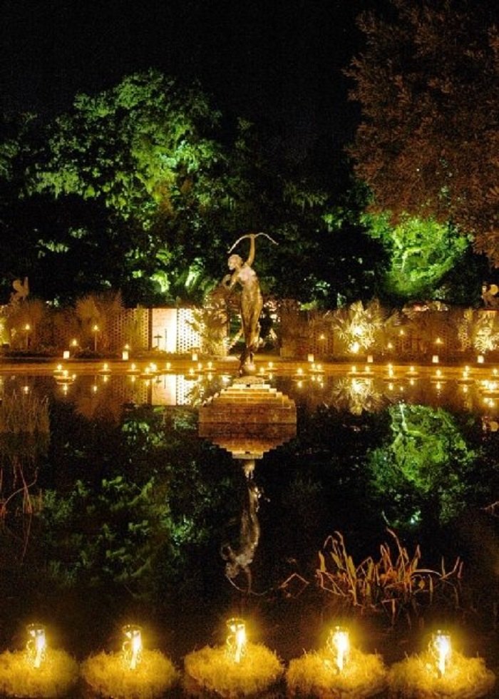
M239 235L264 230L279 240L257 253L264 290L303 300L321 293L324 252L334 247L324 188L310 184L278 138L262 138L243 119L222 129L199 88L156 71L128 76L77 96L47 140L29 168L31 198L53 213L40 260L45 270L69 270L79 259L81 274L63 275L78 282L76 292L90 280L120 288L125 302L200 300ZM244 244L237 252L245 257ZM154 285L161 295L151 294Z

